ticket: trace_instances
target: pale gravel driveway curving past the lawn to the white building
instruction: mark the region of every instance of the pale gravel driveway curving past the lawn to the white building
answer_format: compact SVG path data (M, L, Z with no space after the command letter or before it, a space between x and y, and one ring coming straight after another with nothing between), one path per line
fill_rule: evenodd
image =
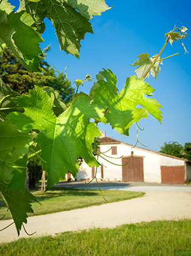
M64 186L73 187L75 183L65 182ZM138 184L138 182L128 185L113 185L114 183L102 182L101 187L102 189L142 191L146 192L146 195L142 198L112 202L101 206L32 216L28 218L28 223L25 225L27 232L36 231L33 237L37 237L93 227L115 227L141 221L191 219L190 185ZM84 188L83 182L78 182L76 187ZM95 186L92 184L88 189L95 189ZM12 220L0 221L0 229L11 222ZM28 236L21 230L20 237ZM17 239L16 229L13 225L0 232L1 243Z

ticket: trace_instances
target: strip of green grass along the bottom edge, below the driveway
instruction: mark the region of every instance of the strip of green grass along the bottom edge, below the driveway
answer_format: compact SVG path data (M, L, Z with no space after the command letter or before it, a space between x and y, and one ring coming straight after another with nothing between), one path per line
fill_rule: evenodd
M152 221L114 229L65 232L1 244L0 255L184 255L191 252L191 220Z

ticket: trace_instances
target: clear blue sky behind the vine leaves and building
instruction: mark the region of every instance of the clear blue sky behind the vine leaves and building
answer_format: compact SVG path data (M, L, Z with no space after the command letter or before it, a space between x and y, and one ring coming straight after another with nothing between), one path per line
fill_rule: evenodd
M9 1L13 5L18 1ZM158 151L164 142L177 141L184 145L191 142L191 1L106 1L113 8L95 16L91 22L94 35L88 33L81 41L80 59L59 50L55 29L46 21L46 30L42 35L45 40L42 49L51 44L47 55L49 64L54 64L59 71L67 67L69 79L83 79L86 74L95 75L102 67L109 67L118 78L117 87L122 89L126 78L134 74L135 67L130 66L137 55L148 52L150 56L157 54L165 43L164 34L176 27L185 26L188 35L184 44L189 54L184 54L180 42L167 44L161 57L179 52L175 57L164 60L158 80L146 79L155 91L155 99L163 105L162 125L152 116L142 119L139 126L139 141L150 146L150 150ZM82 91L88 93L92 82L86 83ZM130 129L130 136L122 136L109 125L99 125L106 130L106 135L123 142L135 145L136 126ZM142 147L139 145L139 147Z

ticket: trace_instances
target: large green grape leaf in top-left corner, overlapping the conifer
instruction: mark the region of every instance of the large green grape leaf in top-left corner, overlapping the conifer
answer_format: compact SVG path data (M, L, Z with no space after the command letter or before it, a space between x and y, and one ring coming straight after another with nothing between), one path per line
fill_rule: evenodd
M13 6L12 6L13 9ZM40 71L38 67L42 42L41 35L33 29L35 22L25 11L11 12L7 1L0 4L0 48L7 46L28 71Z

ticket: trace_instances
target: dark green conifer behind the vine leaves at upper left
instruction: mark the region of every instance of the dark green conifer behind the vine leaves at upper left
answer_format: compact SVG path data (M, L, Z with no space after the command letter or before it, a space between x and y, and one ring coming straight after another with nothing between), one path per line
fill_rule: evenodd
M44 88L50 86L59 91L61 99L64 102L70 102L73 96L73 88L70 81L67 80L63 72L56 74L53 67L45 60L50 46L45 48L39 56L39 69L41 72L29 72L27 69L15 58L13 53L4 48L0 55L0 74L4 83L7 83L14 91L20 94L28 94L29 89L34 89L34 85Z

